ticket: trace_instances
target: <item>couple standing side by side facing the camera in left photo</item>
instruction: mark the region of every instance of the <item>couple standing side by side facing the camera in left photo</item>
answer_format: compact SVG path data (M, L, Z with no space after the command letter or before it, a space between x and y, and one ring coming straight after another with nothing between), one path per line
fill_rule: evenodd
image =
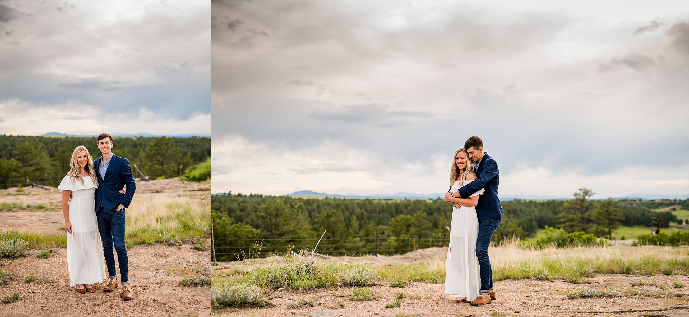
M125 208L134 197L136 183L129 161L112 153L112 136L101 133L96 141L102 156L92 161L85 146L76 146L70 160L70 172L58 186L63 190L70 287L76 285L76 291L81 294L96 292L92 284L105 280L105 255L110 281L103 291L112 292L121 283L122 298L132 299L125 248ZM126 189L123 188L125 184ZM113 244L120 266L120 281L115 271Z

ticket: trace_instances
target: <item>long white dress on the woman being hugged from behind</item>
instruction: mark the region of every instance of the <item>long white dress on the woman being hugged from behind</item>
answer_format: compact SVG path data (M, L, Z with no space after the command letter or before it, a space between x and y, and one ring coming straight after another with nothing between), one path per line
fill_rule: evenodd
M464 185L472 181L464 181ZM460 182L455 181L451 192L457 191ZM482 195L486 190L473 193L471 196ZM447 248L445 268L445 294L452 297L466 297L474 300L481 288L481 272L476 257L476 239L478 237L478 218L475 207L452 208L452 223L450 225L450 245Z

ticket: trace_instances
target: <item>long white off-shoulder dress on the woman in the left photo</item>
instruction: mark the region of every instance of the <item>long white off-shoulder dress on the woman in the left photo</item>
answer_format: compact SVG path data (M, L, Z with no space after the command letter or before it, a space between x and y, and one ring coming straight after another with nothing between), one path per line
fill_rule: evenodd
M91 177L83 177L84 184L65 176L57 188L72 191L70 223L67 232L67 269L70 286L101 283L105 279L103 243L96 219L96 185ZM65 230L66 231L66 230Z

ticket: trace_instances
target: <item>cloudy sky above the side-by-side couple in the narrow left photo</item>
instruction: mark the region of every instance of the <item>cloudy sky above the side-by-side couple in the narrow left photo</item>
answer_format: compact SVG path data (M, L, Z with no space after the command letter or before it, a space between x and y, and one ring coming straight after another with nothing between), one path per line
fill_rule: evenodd
M0 0L0 134L209 135L210 10Z

